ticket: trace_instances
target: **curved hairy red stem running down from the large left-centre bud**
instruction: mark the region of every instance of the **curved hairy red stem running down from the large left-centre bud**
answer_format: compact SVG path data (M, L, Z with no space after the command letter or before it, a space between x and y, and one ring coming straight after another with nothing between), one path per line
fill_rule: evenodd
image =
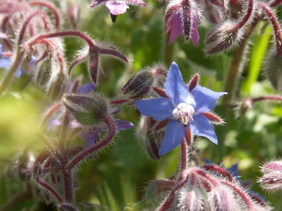
M86 159L88 156L106 146L115 136L116 126L114 120L110 116L105 116L104 121L108 126L108 135L99 143L89 147L88 149L82 151L80 154L75 156L69 163L65 166L65 169L73 169L78 163Z

